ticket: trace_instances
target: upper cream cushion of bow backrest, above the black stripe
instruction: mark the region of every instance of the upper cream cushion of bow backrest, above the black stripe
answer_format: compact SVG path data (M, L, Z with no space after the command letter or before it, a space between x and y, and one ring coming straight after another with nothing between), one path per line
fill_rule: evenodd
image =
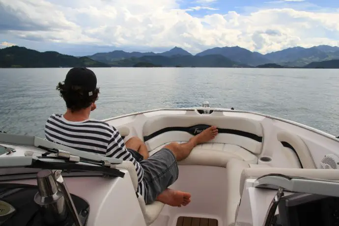
M215 125L218 128L240 130L263 136L261 123L254 119L234 116L160 115L151 117L143 126L143 136L167 127L190 127L198 124Z

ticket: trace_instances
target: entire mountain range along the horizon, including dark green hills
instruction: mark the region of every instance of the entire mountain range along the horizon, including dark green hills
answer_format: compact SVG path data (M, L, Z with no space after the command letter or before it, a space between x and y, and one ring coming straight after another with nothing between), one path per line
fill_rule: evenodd
M322 63L326 61L328 63ZM339 47L293 47L260 54L239 46L216 47L192 55L178 47L163 53L116 50L73 57L57 52L38 52L25 47L0 49L0 67L260 67L339 68ZM323 66L323 65L325 66Z

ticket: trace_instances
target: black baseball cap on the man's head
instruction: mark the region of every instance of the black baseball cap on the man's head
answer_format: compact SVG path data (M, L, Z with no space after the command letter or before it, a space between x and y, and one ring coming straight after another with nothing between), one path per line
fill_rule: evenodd
M88 95L91 96L96 89L96 82L96 76L93 71L85 67L74 67L68 71L64 85L66 88L80 86L85 91L88 91Z

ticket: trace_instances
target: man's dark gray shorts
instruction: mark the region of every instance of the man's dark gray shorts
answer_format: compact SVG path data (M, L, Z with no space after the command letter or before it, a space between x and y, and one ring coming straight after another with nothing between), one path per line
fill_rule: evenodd
M141 160L140 164L147 190L144 199L146 204L150 204L178 179L178 164L174 154L167 148L162 148L148 159Z

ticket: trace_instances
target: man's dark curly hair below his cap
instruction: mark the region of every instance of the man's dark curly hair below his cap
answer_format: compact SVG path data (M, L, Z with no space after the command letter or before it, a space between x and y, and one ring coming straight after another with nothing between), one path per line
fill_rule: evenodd
M93 95L88 96L87 93L91 90L85 90L81 86L66 87L62 83L58 83L57 90L60 91L60 96L66 102L66 107L72 112L88 108L92 103L98 100L99 88L95 88Z

